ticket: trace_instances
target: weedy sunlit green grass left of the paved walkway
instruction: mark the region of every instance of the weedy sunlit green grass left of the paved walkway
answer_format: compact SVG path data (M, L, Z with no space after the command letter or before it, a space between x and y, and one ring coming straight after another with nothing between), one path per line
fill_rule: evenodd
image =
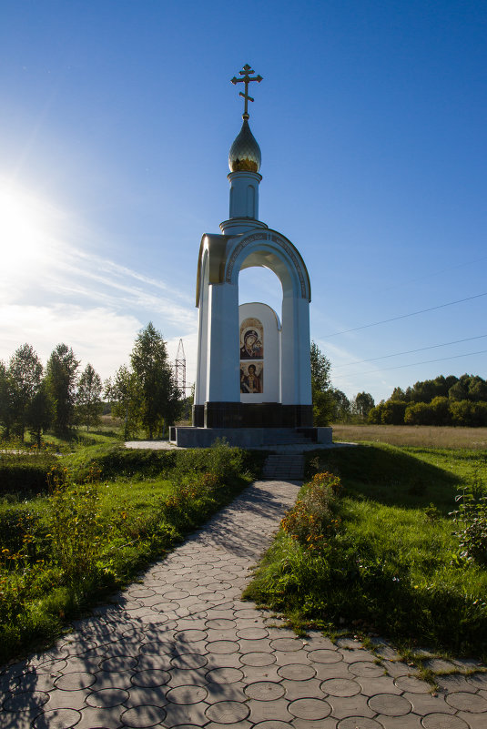
M260 466L224 444L126 451L112 439L75 448L58 459L46 495L0 498L0 661L52 643L67 621L231 501L252 478L245 471Z

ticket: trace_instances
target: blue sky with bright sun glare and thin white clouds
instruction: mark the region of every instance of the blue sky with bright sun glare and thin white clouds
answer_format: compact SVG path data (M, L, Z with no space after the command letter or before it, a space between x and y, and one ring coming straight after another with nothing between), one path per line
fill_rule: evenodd
M480 0L3 0L0 359L63 341L105 379L152 321L194 380L246 63L259 217L309 269L333 385L486 378ZM280 312L269 270L239 289Z

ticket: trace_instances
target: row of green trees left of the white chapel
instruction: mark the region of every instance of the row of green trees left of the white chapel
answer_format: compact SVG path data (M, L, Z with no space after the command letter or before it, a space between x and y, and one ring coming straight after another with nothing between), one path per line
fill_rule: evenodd
M66 436L77 424L86 430L99 423L104 400L123 418L124 435L143 428L147 437L162 435L182 408L166 342L149 322L137 335L130 366L113 379L102 380L91 364L79 371L80 360L65 343L53 349L46 367L30 344L8 360L0 360L0 426L5 440L25 439L29 432L41 444L42 434L53 430Z

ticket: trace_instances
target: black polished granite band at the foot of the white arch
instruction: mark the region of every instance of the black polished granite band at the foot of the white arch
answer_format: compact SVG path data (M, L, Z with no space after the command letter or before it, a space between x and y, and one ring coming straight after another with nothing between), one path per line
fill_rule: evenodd
M193 406L195 428L312 428L311 405L206 402Z

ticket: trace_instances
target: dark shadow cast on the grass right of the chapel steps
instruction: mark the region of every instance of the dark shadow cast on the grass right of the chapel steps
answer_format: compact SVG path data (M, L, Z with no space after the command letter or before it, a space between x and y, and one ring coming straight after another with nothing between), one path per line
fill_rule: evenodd
M353 498L406 509L421 509L434 503L445 515L454 508L455 495L462 485L455 473L386 445L309 451L307 478L318 471L340 476Z

